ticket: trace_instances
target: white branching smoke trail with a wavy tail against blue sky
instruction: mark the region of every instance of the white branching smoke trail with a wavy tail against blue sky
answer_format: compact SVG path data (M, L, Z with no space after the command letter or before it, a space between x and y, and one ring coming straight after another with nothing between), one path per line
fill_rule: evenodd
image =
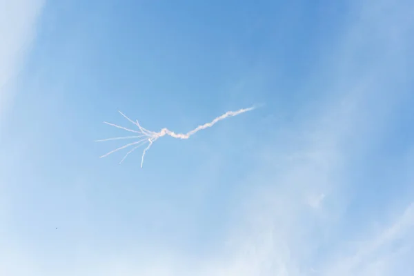
M108 123L106 121L104 121L103 123L104 124L108 124L110 126L114 126L115 128L121 128L121 129L126 130L126 131L129 131L129 132L135 132L138 135L135 135L135 136L126 136L126 137L115 137L115 138L109 138L109 139L102 139L102 140L97 140L97 142L110 141L110 140L118 140L118 139L132 139L132 138L141 138L141 139L139 139L139 141L135 141L133 143L126 144L125 146L121 146L119 148L116 148L115 150L111 150L110 152L106 153L105 155L102 155L100 158L106 157L106 156L108 156L108 155L110 155L113 152L116 152L118 150L122 150L124 148L128 148L129 146L136 145L134 148L132 148L132 150L130 150L130 151L128 151L126 153L126 155L124 156L124 158L122 158L122 160L119 162L119 164L121 164L126 159L126 157L128 157L128 155L130 155L130 153L132 153L134 150L136 150L140 146L144 146L144 144L147 144L148 143L148 146L142 152L142 157L141 157L141 168L142 168L142 165L144 164L144 156L145 156L145 153L147 152L147 150L150 149L150 147L152 146L152 144L155 141L157 141L157 139L159 139L160 137L163 137L163 136L168 135L168 136L173 137L173 138L176 138L176 139L188 139L188 138L190 138L191 135L194 135L199 130L204 130L206 128L210 128L210 127L214 126L218 121L221 121L221 120L226 119L228 117L237 116L239 114L242 114L244 112L248 112L248 111L253 110L253 109L255 109L254 106L253 107L250 107L250 108L242 108L242 109L237 110L237 111L228 111L228 112L224 113L223 115L221 115L221 116L213 119L213 121L210 121L210 123L206 123L204 125L197 126L197 128L195 128L193 130L190 130L187 133L175 133L175 132L172 132L171 130L168 130L168 128L163 128L159 132L153 132L153 131L147 130L146 128L143 128L139 124L138 120L137 121L132 121L130 118L128 118L126 115L124 115L124 113L122 113L121 111L119 111L119 113L123 117L125 117L132 124L135 124L135 126L137 126L139 130L131 130L129 128L124 128L123 126L118 126L116 124L111 124L111 123Z

